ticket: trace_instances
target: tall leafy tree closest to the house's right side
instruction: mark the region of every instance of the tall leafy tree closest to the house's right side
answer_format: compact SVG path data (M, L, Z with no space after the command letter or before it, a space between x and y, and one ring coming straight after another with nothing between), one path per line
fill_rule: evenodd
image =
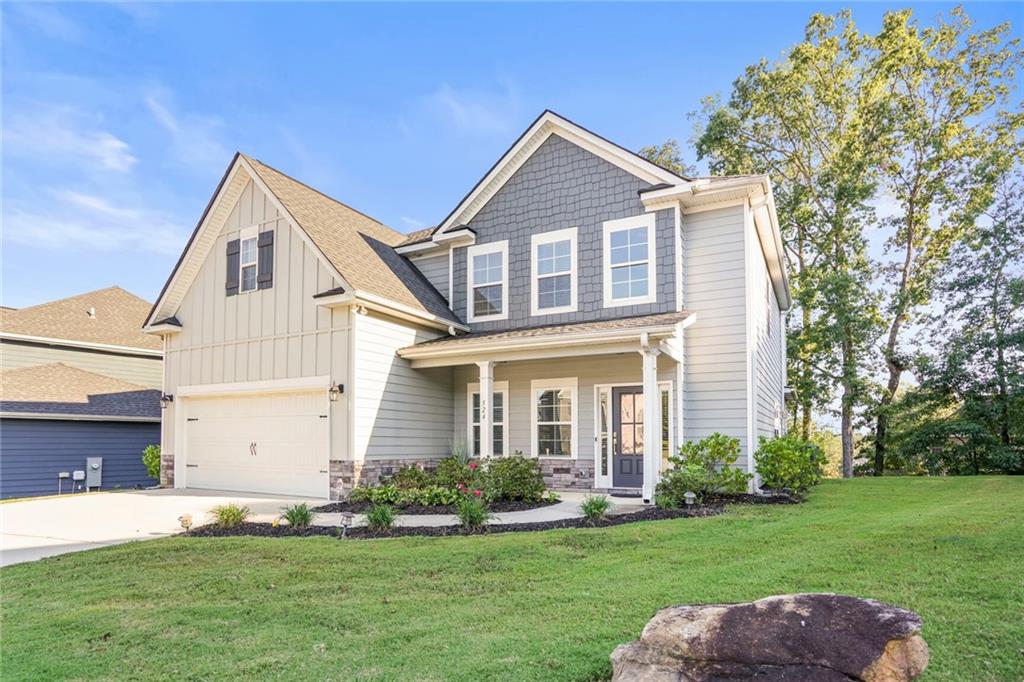
M794 371L808 385L841 390L844 476L853 474L854 412L879 323L864 230L888 119L870 47L848 11L815 14L786 58L749 67L725 104L706 100L697 139L714 172L776 180L783 237L798 261Z

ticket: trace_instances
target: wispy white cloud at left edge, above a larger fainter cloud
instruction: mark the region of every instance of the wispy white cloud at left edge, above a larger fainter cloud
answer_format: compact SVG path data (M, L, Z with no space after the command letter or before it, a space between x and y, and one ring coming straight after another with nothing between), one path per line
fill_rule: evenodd
M10 117L4 145L10 154L31 159L51 157L91 169L129 171L138 160L128 143L86 119L73 106L36 104Z

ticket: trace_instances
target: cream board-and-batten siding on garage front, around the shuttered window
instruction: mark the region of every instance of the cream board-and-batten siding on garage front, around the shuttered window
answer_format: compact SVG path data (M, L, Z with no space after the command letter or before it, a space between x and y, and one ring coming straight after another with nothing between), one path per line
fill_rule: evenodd
M273 283L227 296L226 245L239 230L272 229ZM349 311L317 306L313 295L338 287L298 228L251 181L231 209L175 315L181 332L170 335L165 387L330 376L348 380ZM331 402L331 459L347 458L347 395ZM164 452L174 453L174 407L164 415Z

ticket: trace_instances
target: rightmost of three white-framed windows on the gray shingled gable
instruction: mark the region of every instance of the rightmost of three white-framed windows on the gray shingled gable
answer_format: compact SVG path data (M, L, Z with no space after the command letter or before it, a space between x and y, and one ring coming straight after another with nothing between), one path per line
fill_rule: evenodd
M604 306L653 303L654 214L604 223Z

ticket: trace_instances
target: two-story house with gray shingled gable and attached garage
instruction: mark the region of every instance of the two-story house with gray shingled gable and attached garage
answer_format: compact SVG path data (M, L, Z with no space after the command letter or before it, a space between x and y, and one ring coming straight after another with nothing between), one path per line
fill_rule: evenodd
M465 443L649 500L715 431L753 471L788 305L767 177L680 177L551 112L411 236L239 154L146 324L162 480L336 498Z

